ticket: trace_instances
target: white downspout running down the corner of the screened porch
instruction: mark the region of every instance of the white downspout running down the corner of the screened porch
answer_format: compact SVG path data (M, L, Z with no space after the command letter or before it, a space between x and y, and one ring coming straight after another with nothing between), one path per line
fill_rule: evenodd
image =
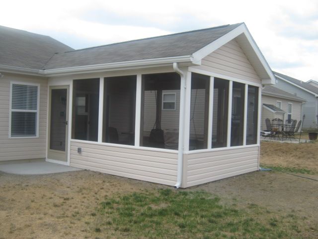
M185 75L178 68L176 62L173 63L173 70L180 75L180 116L179 116L179 144L178 144L178 162L177 162L177 182L175 188L179 188L182 182L182 164L183 164L183 137L184 137L184 112L185 112ZM182 97L182 99L181 99Z

